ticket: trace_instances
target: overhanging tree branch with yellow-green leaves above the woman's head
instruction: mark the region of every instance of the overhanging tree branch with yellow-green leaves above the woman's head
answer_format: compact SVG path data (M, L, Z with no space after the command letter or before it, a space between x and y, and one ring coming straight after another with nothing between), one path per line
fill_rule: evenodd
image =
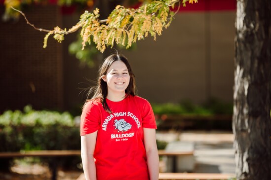
M82 37L82 49L84 49L86 43L90 44L93 41L96 44L96 48L103 52L106 47L112 47L114 43L118 44L120 42L123 46L129 48L132 42L144 39L144 37L148 36L148 33L155 40L156 35L161 35L163 28L167 28L170 25L173 16L179 11L181 1L183 5L187 1L189 3L193 3L193 1L197 2L197 0L153 1L136 10L118 5L108 18L104 20L98 19L100 16L99 9L96 8L92 13L85 11L81 15L80 21L68 29L68 31L60 27L55 27L53 30L37 28L28 21L23 12L13 7L11 8L22 14L27 24L35 30L47 32L47 35L44 37L44 48L47 46L47 40L50 35L54 35L54 39L60 43L64 40L64 35L76 32L82 28L80 33ZM176 3L179 3L177 11L169 13L170 7Z

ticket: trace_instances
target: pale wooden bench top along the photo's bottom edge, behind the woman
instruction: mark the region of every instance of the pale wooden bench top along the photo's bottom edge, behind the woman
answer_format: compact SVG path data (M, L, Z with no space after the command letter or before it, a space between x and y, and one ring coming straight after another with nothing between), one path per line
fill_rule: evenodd
M234 174L216 173L159 173L159 180L229 180ZM82 173L76 180L85 180Z

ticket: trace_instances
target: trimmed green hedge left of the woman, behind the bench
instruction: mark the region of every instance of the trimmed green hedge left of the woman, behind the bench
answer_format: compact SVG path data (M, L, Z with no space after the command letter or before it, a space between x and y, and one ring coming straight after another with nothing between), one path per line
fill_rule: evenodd
M79 150L79 130L68 112L35 111L31 106L24 112L8 110L0 115L0 152ZM8 167L10 162L0 159L0 166Z

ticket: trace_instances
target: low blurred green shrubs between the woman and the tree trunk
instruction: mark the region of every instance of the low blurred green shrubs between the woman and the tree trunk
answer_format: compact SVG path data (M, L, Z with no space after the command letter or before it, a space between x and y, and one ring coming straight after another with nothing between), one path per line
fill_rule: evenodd
M232 123L229 120L233 104L216 98L210 98L201 105L190 100L151 105L159 130L232 130ZM217 121L218 118L223 121Z

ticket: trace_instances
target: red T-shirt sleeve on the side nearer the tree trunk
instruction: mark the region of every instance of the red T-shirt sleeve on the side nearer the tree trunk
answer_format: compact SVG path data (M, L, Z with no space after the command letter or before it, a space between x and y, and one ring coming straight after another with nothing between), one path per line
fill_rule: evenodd
M143 111L143 113L142 113L143 128L157 129L156 121L155 121L155 117L154 117L154 113L153 113L151 104L147 100L145 100L145 102L144 102L142 111Z

